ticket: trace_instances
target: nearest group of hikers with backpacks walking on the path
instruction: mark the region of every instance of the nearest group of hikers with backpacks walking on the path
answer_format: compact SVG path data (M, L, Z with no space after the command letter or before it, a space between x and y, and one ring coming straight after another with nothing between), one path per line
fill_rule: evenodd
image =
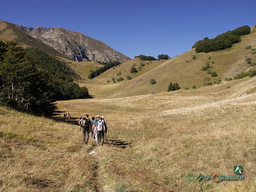
M83 143L88 144L89 136L92 137L98 146L104 144L104 137L107 134L107 122L104 120L104 116L97 115L96 119L93 116L92 120L89 115L86 114L78 121L80 125L80 131L83 130Z

